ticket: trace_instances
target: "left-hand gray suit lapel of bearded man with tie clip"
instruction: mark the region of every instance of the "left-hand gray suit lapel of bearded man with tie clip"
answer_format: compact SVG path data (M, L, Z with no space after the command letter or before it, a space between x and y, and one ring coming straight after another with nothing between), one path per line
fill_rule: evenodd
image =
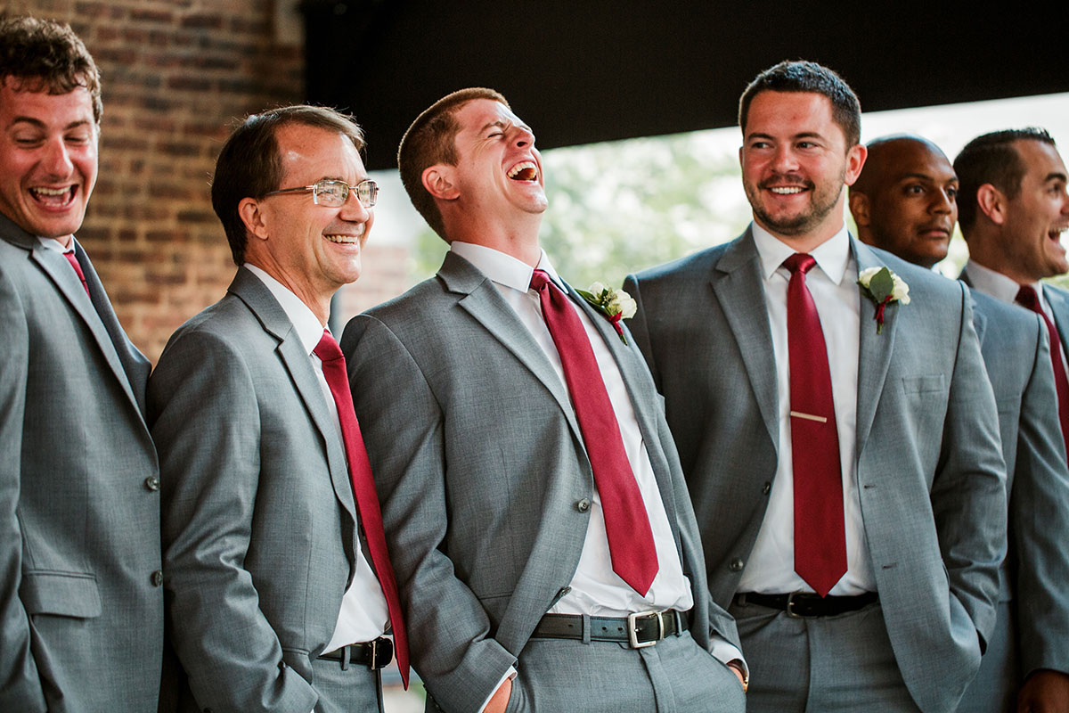
M713 267L710 279L728 327L739 344L749 387L774 448L779 444L776 365L773 355L769 310L764 301L761 261L747 230L731 244ZM695 319L703 319L695 315ZM710 369L717 365L710 365Z

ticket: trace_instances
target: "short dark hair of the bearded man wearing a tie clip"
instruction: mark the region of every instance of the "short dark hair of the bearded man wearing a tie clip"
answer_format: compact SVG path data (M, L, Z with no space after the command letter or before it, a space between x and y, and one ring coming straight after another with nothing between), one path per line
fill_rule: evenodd
M842 77L822 64L784 61L757 75L739 98L739 126L746 134L749 105L761 92L810 92L827 97L832 118L847 138L847 149L862 140L862 105Z

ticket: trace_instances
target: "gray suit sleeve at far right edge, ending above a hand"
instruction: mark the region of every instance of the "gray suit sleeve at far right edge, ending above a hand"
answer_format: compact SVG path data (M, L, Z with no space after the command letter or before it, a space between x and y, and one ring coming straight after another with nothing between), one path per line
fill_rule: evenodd
M1037 350L1021 401L1010 494L1010 547L1021 672L1069 673L1069 472L1047 330L1036 319Z

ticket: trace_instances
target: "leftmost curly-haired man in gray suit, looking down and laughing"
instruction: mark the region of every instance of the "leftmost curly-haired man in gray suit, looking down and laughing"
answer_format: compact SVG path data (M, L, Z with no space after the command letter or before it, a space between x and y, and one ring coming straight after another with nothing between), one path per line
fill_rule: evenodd
M0 710L155 710L164 640L149 361L74 238L99 75L65 25L0 20Z

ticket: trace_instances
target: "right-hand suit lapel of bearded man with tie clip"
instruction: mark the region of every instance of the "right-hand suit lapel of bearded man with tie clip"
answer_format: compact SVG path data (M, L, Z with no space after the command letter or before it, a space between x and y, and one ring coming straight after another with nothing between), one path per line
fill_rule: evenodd
M850 236L850 248L857 261L857 272L868 267L884 267L874 252L868 246ZM880 403L880 394L887 378L887 368L895 351L895 334L898 325L898 312L901 305L887 305L884 309L883 329L877 334L876 305L871 299L861 294L861 344L857 363L857 453L862 452L876 418L876 409Z

